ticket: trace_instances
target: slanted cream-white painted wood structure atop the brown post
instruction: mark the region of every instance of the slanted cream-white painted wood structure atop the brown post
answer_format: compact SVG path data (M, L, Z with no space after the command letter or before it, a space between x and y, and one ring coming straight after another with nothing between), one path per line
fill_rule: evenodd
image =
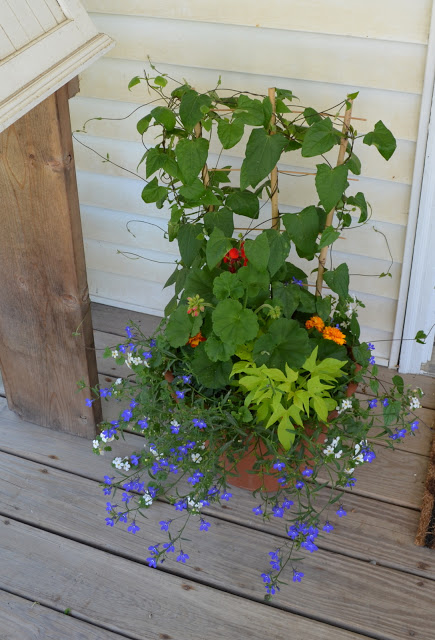
M0 0L0 131L112 46L79 0Z

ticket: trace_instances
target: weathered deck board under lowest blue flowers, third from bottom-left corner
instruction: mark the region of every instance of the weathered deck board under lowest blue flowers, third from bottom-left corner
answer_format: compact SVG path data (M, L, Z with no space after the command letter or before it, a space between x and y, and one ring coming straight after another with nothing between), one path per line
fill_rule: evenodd
M16 458L0 455L1 476L5 486L5 494L0 499L0 511L7 518L18 518L26 524L37 526L57 535L68 536L77 542L108 551L111 554L122 555L129 560L138 560L144 564L143 549L151 543L155 543L156 537L160 539L159 521L167 520L173 515L173 507L156 503L148 513L148 519L141 521L141 530L135 536L130 535L124 526L114 529L104 524L104 496L101 496L96 483L77 478L64 472L46 469L24 460L20 460L17 466ZM17 478L17 471L18 478ZM44 473L41 473L44 471ZM247 492L244 492L248 495ZM275 549L282 544L283 527L279 537L272 532L255 531L247 527L247 520L251 521L251 503L238 504L239 495L236 495L236 504L239 513L238 522L222 521L219 516L226 517L228 510L215 510L215 517L208 517L211 521L211 529L207 535L196 534L198 522L194 521L186 531L186 537L192 539L194 544L185 542L189 546L190 562L186 566L180 566L168 562L167 570L182 578L195 582L205 583L215 589L229 590L243 598L261 601L263 586L259 580L259 571L267 570L269 549ZM86 505L86 508L84 508ZM19 506L17 510L16 507ZM220 513L219 513L220 512ZM235 513L235 509L234 512ZM369 506L365 512L359 514L359 523L369 514ZM339 546L334 548L334 535L328 536L327 542L333 547L333 553L321 550L304 560L306 572L304 584L283 586L281 593L275 599L275 604L286 611L298 613L305 617L316 617L318 620L329 624L341 624L345 628L367 634L382 635L383 637L399 638L408 637L409 629L418 629L420 637L430 638L431 625L435 622L435 613L431 611L431 590L434 584L428 579L410 577L401 571L391 570L382 566L385 547L391 545L394 559L399 555L394 551L391 538L383 545L379 553L375 547L374 533L379 536L380 526L384 537L388 537L387 531L392 525L385 521L380 513L375 514L378 521L376 532L367 536L367 541L359 551L361 562L349 557L352 553L347 548L347 542L343 542L346 557L338 555ZM404 514L406 517L406 513ZM216 517L217 516L217 517ZM350 514L349 519L353 517ZM374 516L369 517L368 527L374 522ZM408 522L405 520L406 524ZM1 525L0 525L1 526ZM397 526L397 522L394 523ZM271 527L270 527L271 528ZM273 527L275 534L277 527ZM341 521L337 523L337 529L341 529ZM347 532L348 535L349 531ZM394 535L394 534L393 534ZM396 533L397 535L397 533ZM362 537L362 536L361 536ZM403 536L401 536L401 542ZM357 541L360 539L358 536ZM233 544L229 541L233 540ZM323 542L326 537L320 541ZM404 551L411 550L411 541L401 545L402 556ZM370 548L371 547L371 548ZM213 550L213 554L210 550ZM243 554L241 555L241 549ZM186 550L186 549L184 549ZM368 552L368 553L367 553ZM98 552L96 552L98 553ZM367 554L367 555L365 555ZM420 569L418 562L427 559L422 550L412 549L411 558L399 560L402 571L410 571L416 575L422 573L428 578L435 578L435 564L427 564L425 571ZM242 560L243 558L243 560ZM388 556L387 556L388 558ZM418 559L418 560L417 560ZM371 566L367 560L376 562ZM389 560L391 564L391 560ZM109 564L112 564L109 562ZM414 566L413 566L414 565ZM242 568L243 567L243 568ZM165 568L165 567L164 567ZM143 572L147 569L143 567ZM167 578L168 582L170 577ZM390 588L385 585L390 583ZM333 584L334 598L326 585ZM420 588L416 588L420 587ZM402 614L395 610L396 593L400 592L406 598L409 609ZM307 595L310 594L308 598ZM370 619L367 619L366 611L370 610ZM421 623L419 618L424 618Z

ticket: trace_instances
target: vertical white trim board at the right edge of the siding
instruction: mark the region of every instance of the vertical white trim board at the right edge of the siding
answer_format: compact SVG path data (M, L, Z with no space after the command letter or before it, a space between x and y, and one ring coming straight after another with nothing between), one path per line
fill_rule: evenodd
M403 255L402 276L389 361L390 367L397 367L400 356L399 370L402 373L420 373L421 364L430 358L430 355L426 357L429 346L418 345L412 341L412 338L414 338L419 329L424 330L426 328L426 330L428 330L431 326L431 323L428 324L431 304L428 305L427 302L431 300L430 294L433 293L433 290L429 292L427 285L432 278L432 272L430 268L425 266L425 261L431 259L428 231L433 233L433 229L431 231L430 227L430 217L432 214L430 206L431 203L435 202L433 185L432 193L430 193L429 173L430 169L432 169L433 175L435 169L433 157L430 163L431 156L434 155L435 147L431 152L428 139L429 137L431 139L434 137L434 135L430 135L430 123L435 133L435 112L433 110L434 83L435 0L433 0L432 3L432 16L421 98L420 121L418 126L405 251ZM434 142L435 141L431 142L431 144L434 145ZM425 191L423 191L423 182L425 182ZM433 246L432 244L432 247ZM423 280L425 282L423 282ZM422 350L421 347L425 347L425 349ZM432 345L430 346L430 350L431 349Z

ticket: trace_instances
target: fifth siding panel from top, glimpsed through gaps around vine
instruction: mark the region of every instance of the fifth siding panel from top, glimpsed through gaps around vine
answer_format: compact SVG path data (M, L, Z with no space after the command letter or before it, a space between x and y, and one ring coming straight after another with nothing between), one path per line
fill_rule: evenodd
M108 140L106 138L96 138L93 136L80 136L79 139L87 146L99 152L103 157L106 157L106 154L109 153L113 162L133 172L135 172L143 153L143 147L140 143ZM104 172L110 176L131 176L131 174L128 174L124 169L107 162L103 163L100 156L84 147L80 142L76 142L74 148L77 167L81 171ZM368 151L373 150L368 148ZM143 188L145 183L139 180L139 178L138 181ZM395 224L406 223L410 193L408 185L368 178L360 178L358 182L351 182L350 184L349 193L363 191L363 193L367 195L367 199L373 207L373 217L375 220L383 222L391 221ZM279 198L282 204L302 208L318 200L314 185L314 176L295 177L283 175L280 177L279 188ZM141 189L138 188L138 193L140 193L140 191ZM88 204L92 203L89 202ZM115 205L113 208L115 208ZM124 209L123 206L116 208Z

